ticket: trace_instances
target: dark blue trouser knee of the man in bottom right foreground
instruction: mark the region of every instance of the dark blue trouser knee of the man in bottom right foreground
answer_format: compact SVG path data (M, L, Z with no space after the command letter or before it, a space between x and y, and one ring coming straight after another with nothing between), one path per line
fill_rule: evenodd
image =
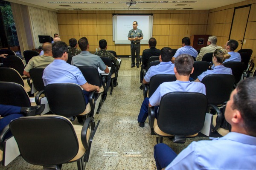
M177 153L164 143L154 146L154 159L156 161L157 170L167 167L176 156Z

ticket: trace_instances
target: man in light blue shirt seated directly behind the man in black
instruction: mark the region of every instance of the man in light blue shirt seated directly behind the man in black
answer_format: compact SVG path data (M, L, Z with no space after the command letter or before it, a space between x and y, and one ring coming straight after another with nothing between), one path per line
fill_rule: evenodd
M157 74L174 74L174 64L172 63L172 49L164 47L160 51L160 64L150 67L143 79L143 84L148 84L151 77Z

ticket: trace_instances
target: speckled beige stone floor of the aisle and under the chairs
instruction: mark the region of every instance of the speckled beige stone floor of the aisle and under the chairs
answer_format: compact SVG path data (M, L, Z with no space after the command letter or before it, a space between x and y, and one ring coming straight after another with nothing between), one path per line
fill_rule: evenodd
M137 115L143 102L143 91L140 90L140 68L131 68L131 59L122 58L119 70L118 86L102 106L95 121L100 120L99 128L94 136L87 170L155 170L154 145L156 136L150 135L148 121L145 127L139 127ZM77 121L74 122L78 124ZM164 138L176 153L179 153L192 141L204 138L186 139L185 144L174 144ZM40 147L40 146L38 146ZM1 170L42 170L21 157L15 159ZM77 169L76 163L64 164L63 170Z

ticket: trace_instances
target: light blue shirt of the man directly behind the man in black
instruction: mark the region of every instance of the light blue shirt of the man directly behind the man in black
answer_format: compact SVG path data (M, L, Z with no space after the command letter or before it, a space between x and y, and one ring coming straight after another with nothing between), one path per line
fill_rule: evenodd
M149 82L151 77L157 74L175 74L174 73L174 64L172 62L160 62L158 65L151 66L144 79L146 82Z

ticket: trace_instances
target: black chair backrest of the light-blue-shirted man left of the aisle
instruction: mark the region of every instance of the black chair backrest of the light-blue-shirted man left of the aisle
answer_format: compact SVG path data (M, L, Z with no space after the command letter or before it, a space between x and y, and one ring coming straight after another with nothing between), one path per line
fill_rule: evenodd
M45 87L49 108L61 116L76 116L85 111L84 94L79 85L72 83L49 84Z

